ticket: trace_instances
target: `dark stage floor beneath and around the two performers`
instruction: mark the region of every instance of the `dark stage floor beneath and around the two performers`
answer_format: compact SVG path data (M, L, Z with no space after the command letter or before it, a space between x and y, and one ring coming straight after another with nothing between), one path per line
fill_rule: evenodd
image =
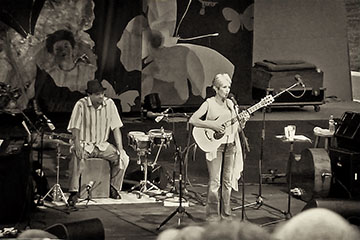
M289 159L289 145L282 143L275 138L276 135L283 134L283 128L289 124L297 126L297 133L304 134L311 140L314 140L313 128L319 126L327 128L328 118L330 114L335 118L341 118L346 111L360 112L360 103L358 102L339 102L332 101L321 105L321 110L315 112L312 106L305 106L299 108L292 107L279 107L273 108L271 112L265 113L265 141L263 146L264 159L262 161L262 172L269 173L275 171L278 174L285 173L287 160ZM249 139L251 151L247 154L245 159L245 202L252 203L256 200L256 195L259 193L259 156L260 156L260 140L261 129L263 126L263 113L256 112L247 123L245 133ZM153 120L140 121L138 118L124 118L124 128L122 129L124 146L130 155L131 164L128 173L138 171L139 165L136 164L137 155L134 150L128 146L127 133L129 131L144 131L147 132L151 129L164 129L171 130L176 138L177 145L181 149L185 149L188 143L190 133L187 121L171 121L171 119L164 119L160 123L155 123ZM57 122L56 124L59 131L65 132L63 123ZM190 143L193 140L190 138ZM167 178L171 178L173 171L176 172L176 163L174 161L174 141L168 148L160 151L158 164L163 167ZM313 143L299 143L295 145L294 151L300 153L306 148L312 148ZM154 160L158 147L152 149L152 154L149 156L150 160ZM55 151L52 150L44 154L44 169L48 177L49 186L55 183ZM60 184L67 192L67 163L68 160L62 160L60 166ZM174 170L175 169L175 170ZM127 174L128 174L127 173ZM186 211L191 213L197 220L194 223L187 216L181 220L182 225L189 224L204 224L205 208L201 204L206 198L206 181L207 171L204 161L204 153L200 150L195 151L194 155L189 155L187 172L188 180L191 185L187 185L189 195L189 207L185 207ZM168 188L171 187L168 184ZM169 190L169 189L167 189ZM262 196L264 202L278 209L287 210L287 185L285 177L279 177L270 180L267 184L262 184ZM241 191L234 192L232 197L232 205L239 207L241 204ZM194 197L197 198L194 198ZM156 239L157 227L169 216L176 206L165 207L163 201L160 199L153 202L140 202L140 203L121 203L121 204L104 204L92 205L86 208L80 206L78 211L64 213L64 206L55 206L55 208L36 207L29 217L29 221L20 222L16 227L20 230L25 227L45 229L55 223L77 222L90 218L100 218L104 225L106 239ZM119 200L120 202L122 200ZM135 202L135 201L134 201ZM293 215L299 213L306 205L306 202L291 198L291 213ZM245 219L247 221L262 225L277 219L284 219L284 215L278 211L265 206L259 209L246 208ZM176 227L181 214L176 214L168 223L162 226L161 230ZM242 211L234 211L234 218L242 220ZM29 226L28 226L29 225ZM11 225L13 226L13 225ZM271 231L276 224L264 226ZM2 226L3 227L3 226Z

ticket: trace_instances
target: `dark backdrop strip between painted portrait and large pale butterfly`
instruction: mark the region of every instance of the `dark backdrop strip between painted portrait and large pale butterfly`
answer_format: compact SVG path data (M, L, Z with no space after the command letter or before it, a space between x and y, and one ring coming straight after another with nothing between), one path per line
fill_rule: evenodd
M127 72L120 62L120 50L117 42L128 24L142 12L141 0L94 0L95 20L88 31L95 41L95 53L98 56L99 80L106 79L117 94L132 89L141 89L141 73Z

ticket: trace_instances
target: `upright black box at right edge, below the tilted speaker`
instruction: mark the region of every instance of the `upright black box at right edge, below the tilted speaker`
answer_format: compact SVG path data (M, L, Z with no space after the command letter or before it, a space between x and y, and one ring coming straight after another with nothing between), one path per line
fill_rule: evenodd
M360 153L347 149L329 148L333 184L330 196L360 198Z

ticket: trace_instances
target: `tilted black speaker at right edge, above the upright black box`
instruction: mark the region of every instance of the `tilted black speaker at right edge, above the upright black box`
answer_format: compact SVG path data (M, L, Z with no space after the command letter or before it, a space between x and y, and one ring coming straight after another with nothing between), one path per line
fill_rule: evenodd
M359 151L360 113L345 112L334 134L339 148Z

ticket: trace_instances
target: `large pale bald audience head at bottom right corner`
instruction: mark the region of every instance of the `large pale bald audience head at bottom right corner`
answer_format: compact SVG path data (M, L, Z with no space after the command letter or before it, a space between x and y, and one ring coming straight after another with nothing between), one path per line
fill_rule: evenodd
M325 208L312 208L297 214L279 225L272 235L279 240L360 239L359 230L355 226L339 214Z

